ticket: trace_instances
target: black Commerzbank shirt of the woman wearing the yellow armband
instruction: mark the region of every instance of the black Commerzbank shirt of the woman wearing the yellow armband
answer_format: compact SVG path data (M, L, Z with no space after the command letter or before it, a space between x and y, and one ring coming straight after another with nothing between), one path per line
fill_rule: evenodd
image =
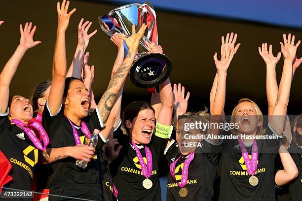
M159 159L163 154L167 139L152 135L148 144L152 154L152 174L149 178L152 181L151 189L143 187L143 180L146 177L142 174L141 165L128 135L122 134L120 129L114 132L122 148L118 157L110 164L110 172L113 176L114 185L118 191L118 201L161 201L159 184ZM146 160L145 145L137 144L142 157Z

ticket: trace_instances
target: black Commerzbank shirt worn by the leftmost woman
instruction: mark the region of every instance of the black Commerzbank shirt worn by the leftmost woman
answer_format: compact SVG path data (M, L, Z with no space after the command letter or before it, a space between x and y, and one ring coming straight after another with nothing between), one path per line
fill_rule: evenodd
M0 150L12 166L9 175L13 180L5 187L30 191L39 150L21 128L11 124L7 115L8 112L0 114Z

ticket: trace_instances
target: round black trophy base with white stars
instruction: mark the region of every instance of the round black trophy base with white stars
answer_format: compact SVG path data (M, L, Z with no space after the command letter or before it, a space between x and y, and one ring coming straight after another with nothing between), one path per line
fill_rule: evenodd
M163 83L171 74L171 60L158 53L143 53L132 65L129 77L139 88L152 88Z

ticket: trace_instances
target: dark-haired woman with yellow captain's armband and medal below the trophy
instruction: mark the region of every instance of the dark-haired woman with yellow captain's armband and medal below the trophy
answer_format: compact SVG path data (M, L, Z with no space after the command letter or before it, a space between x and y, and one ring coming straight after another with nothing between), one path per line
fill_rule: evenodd
M152 46L151 52L162 53L160 46ZM152 99L159 96L158 111L150 103L131 102L123 111L122 130L114 132L122 146L110 164L119 201L161 200L158 163L171 130L173 93L169 79L159 88L159 94L152 94Z

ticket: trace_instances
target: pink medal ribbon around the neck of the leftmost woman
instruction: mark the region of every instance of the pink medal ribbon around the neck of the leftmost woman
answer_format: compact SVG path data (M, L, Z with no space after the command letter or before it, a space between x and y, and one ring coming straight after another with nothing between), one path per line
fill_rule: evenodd
M26 134L27 136L29 136L29 138L32 140L32 142L35 144L35 146L44 151L47 147L47 145L49 144L49 138L48 135L46 134L46 131L44 130L44 128L42 127L42 125L40 123L38 123L37 121L32 122L29 124L29 126L34 127L40 134L42 140L43 140L43 145L40 142L40 140L38 139L38 137L35 135L35 133L27 126L24 125L24 123L22 121L20 121L19 119L12 119L11 123L16 124L17 126L19 126Z

